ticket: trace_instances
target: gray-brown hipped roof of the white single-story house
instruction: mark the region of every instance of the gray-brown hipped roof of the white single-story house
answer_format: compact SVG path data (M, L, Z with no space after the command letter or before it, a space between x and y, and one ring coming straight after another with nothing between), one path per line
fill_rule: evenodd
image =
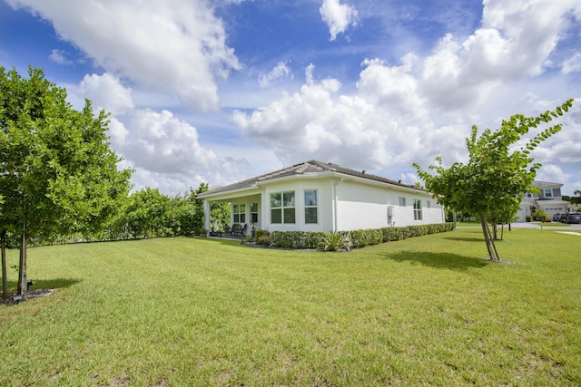
M233 190L238 190L238 189L251 188L255 184L258 184L262 181L271 180L271 179L279 179L279 178L284 178L287 176L293 176L293 175L298 176L298 175L302 175L305 173L317 173L317 172L336 172L336 173L340 173L340 174L347 175L347 176L353 176L353 177L357 177L357 178L361 178L361 179L369 179L369 180L373 180L373 181L378 181L380 183L386 183L386 184L391 184L391 185L395 185L395 186L405 187L408 189L418 189L418 190L424 191L424 189L420 189L419 187L414 186L414 185L404 184L404 183L401 183L401 182L396 181L396 180L386 179L386 178L382 178L381 176L365 173L365 170L362 170L362 171L355 170L355 169L350 169L350 168L344 168L344 167L341 167L340 165L332 164L330 162L321 162L321 161L317 161L317 160L310 160L310 161L301 162L300 164L295 164L291 167L278 169L278 170L266 173L266 174L261 175L261 176L256 176L256 177L251 178L251 179L241 180L241 181L238 181L236 183L233 183L233 184L230 184L227 186L214 187L212 189L209 189L207 192L200 194L200 197L204 197L206 195L212 195L212 194L217 194L217 193L233 191Z

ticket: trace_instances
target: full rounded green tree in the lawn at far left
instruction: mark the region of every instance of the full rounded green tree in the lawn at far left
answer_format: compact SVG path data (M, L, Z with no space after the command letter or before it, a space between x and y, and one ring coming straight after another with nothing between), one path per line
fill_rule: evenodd
M0 232L21 236L18 294L26 291L29 238L95 231L127 196L132 170L117 169L107 126L88 100L74 110L42 69L24 78L0 67Z

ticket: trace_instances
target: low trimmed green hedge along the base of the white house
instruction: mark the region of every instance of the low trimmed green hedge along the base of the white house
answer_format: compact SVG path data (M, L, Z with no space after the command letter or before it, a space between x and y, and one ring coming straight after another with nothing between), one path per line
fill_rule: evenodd
M351 247L360 248L403 240L409 237L421 237L428 234L452 231L453 229L453 223L438 223L421 226L370 228L346 233L349 234ZM323 232L272 231L269 233L266 230L256 230L255 242L258 243L261 237L269 236L269 234L272 246L284 248L318 249L321 246L323 237L325 237Z

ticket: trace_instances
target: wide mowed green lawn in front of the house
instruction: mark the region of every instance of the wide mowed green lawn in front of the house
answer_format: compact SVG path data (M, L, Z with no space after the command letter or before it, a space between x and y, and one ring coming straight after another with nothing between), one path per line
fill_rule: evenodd
M512 264L483 259L478 228L350 253L33 248L54 295L0 305L0 385L581 384L581 237L505 239Z

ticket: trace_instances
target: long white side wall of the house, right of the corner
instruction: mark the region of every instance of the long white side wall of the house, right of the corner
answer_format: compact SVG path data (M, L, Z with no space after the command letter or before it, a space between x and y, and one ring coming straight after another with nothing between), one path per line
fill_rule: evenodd
M445 221L444 211L436 199L422 191L409 192L344 180L337 185L337 197L337 226L343 231ZM399 198L405 198L405 207L399 206ZM414 220L414 199L421 200L421 220Z

